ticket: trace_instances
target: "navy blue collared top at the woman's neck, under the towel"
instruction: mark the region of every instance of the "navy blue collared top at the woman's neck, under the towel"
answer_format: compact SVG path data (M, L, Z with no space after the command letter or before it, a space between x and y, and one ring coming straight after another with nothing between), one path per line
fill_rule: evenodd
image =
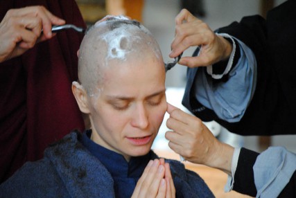
M94 143L90 139L92 131L88 130L82 134L80 142L89 152L110 172L114 180L114 192L116 197L131 197L146 165L150 160L150 152L145 156L133 157L126 161L121 154L107 150L105 147Z

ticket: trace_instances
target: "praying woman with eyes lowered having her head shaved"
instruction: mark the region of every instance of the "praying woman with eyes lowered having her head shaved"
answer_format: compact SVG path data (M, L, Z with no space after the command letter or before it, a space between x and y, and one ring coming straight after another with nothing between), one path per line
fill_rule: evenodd
M85 35L72 91L91 129L71 132L0 186L0 197L214 197L151 145L167 109L159 46L139 22L105 17Z

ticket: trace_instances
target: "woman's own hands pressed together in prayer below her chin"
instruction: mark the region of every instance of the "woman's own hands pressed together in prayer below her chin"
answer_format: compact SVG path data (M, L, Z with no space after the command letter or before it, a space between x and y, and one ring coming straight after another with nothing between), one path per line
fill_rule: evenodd
M134 197L175 197L175 186L170 166L164 159L150 160L139 179Z

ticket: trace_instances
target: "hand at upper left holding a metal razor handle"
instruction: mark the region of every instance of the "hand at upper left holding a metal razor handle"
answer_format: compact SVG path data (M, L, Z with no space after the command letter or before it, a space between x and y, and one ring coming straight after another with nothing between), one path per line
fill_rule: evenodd
M54 36L51 26L64 23L43 6L8 10L0 24L0 62L23 54L37 42L51 39Z

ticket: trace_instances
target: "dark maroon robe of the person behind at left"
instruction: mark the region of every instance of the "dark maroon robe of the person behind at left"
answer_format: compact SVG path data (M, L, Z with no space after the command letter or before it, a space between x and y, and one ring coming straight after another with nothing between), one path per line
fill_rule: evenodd
M10 8L42 5L67 24L85 27L74 0L0 1L0 19ZM36 44L0 64L0 183L45 147L84 123L71 82L78 79L76 52L83 35L73 30Z

